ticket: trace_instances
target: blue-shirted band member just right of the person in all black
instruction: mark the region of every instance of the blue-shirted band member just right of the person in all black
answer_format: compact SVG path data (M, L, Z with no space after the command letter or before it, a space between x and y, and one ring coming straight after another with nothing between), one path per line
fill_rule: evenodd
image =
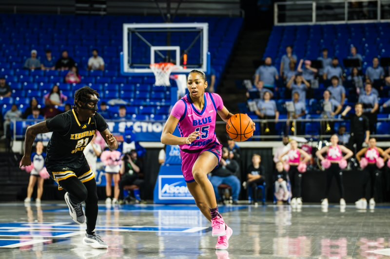
M378 97L372 93L372 85L366 84L366 92L359 96L359 103L363 104L363 114L369 119L370 132L375 134L378 119Z

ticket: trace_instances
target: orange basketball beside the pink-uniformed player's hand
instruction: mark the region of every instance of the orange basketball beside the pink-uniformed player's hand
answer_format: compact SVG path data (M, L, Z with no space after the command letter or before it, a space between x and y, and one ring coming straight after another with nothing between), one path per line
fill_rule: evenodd
M254 123L247 114L234 114L226 123L226 132L235 141L245 141L253 136Z

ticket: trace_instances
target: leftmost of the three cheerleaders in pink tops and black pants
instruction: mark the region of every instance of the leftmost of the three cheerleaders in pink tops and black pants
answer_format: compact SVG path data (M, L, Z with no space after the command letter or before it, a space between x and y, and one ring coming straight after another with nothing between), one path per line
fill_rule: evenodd
M286 164L286 171L289 173L289 178L292 187L292 208L302 207L302 173L306 172L306 163L309 162L311 156L304 150L298 148L298 143L295 140L290 142L291 149L279 156L279 160L282 161L282 157L288 156L288 164ZM301 161L302 160L302 161Z

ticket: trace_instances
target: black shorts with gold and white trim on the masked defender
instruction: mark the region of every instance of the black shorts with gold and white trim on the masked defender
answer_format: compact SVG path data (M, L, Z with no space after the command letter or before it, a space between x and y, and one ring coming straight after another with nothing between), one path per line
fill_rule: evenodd
M69 177L77 177L81 183L85 183L95 179L94 172L91 167L88 165L86 159L84 159L81 164L68 164L68 165L50 165L50 163L46 164L47 172L50 177L54 179L54 181L58 184L58 189L62 190L61 181L68 179Z

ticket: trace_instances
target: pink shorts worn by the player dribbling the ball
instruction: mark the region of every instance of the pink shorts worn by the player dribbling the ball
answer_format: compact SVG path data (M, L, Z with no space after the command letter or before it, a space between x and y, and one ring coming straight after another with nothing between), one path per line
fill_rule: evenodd
M198 159L198 157L205 151L209 151L215 154L219 164L219 161L222 157L222 145L218 143L209 145L208 147L194 153L188 153L180 149L181 171L183 172L184 180L186 181L186 183L195 182L194 176L192 174L192 167L194 167L196 159Z

